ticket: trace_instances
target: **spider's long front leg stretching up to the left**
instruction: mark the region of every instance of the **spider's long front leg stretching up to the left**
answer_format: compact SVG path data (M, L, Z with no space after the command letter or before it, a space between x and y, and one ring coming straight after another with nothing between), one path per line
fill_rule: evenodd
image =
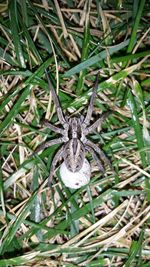
M45 70L45 74L46 74L46 77L47 77L47 80L48 80L48 85L49 85L49 88L50 88L50 91L52 93L52 97L53 97L53 101L56 105L56 111L57 111L57 115L58 115L58 119L59 119L59 122L61 124L66 124L66 120L65 120L65 117L64 117L64 114L63 114L63 111L62 111L62 108L60 106L60 103L59 103L59 99L58 99L58 96L55 92L55 89L49 79L49 75L48 75L48 72L47 70Z

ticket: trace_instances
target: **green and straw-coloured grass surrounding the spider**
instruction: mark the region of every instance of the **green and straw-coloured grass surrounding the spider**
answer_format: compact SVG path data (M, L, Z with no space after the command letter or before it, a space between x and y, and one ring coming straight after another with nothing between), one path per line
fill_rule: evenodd
M148 1L1 1L0 266L138 266L150 261ZM85 114L100 71L90 138L115 174L91 163L90 184L66 188L58 146L30 154L57 123L45 68L63 111ZM59 166L58 166L59 167Z

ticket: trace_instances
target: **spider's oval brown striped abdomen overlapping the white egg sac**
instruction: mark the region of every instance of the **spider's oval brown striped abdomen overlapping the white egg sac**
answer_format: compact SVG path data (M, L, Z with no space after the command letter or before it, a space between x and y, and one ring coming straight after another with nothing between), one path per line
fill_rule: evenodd
M82 168L85 158L85 149L79 139L72 138L66 143L63 158L66 167L71 172L78 172Z

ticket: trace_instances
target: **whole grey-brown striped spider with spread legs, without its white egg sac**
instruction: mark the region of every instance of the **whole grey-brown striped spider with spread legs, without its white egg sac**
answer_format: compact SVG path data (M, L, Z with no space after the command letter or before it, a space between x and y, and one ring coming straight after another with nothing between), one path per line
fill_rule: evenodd
M90 152L92 154L93 159L96 161L97 166L102 173L105 173L102 161L107 165L109 165L110 169L113 169L110 160L100 149L100 147L98 147L95 143L93 143L86 137L88 134L92 133L99 125L101 125L111 113L110 111L103 113L102 116L97 121L95 121L90 125L94 100L98 88L99 73L97 74L96 77L96 81L90 98L90 103L87 108L87 113L85 116L81 115L79 118L77 117L69 118L68 116L64 116L57 94L49 79L48 71L45 70L45 73L48 80L49 89L52 93L52 99L56 106L58 120L62 125L62 128L59 128L55 125L52 125L47 120L44 120L42 124L47 128L49 128L50 130L61 135L61 137L43 142L33 152L33 155L35 155L39 151L47 147L56 144L62 144L61 148L56 152L52 160L51 170L49 175L49 184L51 184L56 164L61 157L63 158L67 169L71 172L80 171L80 169L83 166L83 162L85 160L86 152Z

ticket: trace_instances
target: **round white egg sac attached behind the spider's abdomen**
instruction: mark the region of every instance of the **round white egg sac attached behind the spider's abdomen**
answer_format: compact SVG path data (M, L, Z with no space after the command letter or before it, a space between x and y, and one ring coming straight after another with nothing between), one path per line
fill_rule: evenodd
M71 172L67 169L65 162L60 166L60 176L66 187L78 189L90 181L91 167L87 159L84 160L83 166L78 172Z

